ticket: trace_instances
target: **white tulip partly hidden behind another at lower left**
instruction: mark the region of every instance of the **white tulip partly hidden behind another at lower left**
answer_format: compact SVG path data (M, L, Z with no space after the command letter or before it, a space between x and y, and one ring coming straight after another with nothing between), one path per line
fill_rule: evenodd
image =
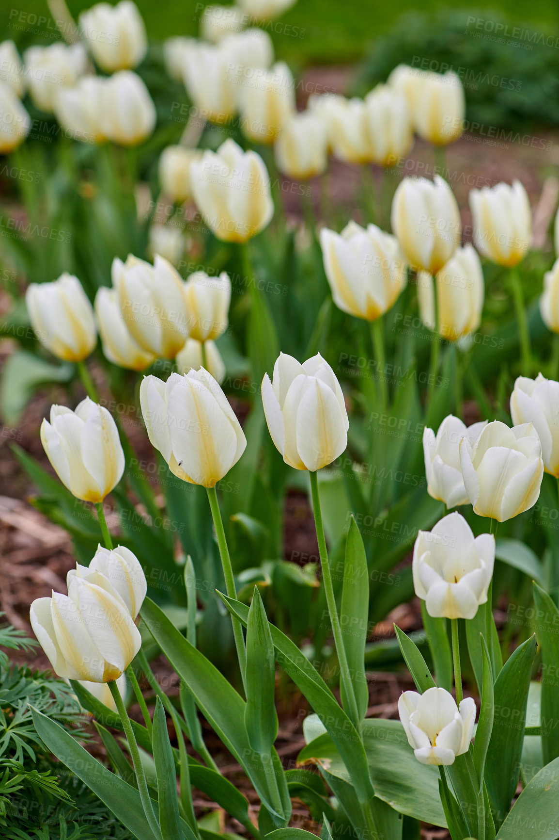
M77 563L76 569L68 572L68 591L76 577L95 584L100 576L103 588L115 598L120 598L135 619L148 591L144 570L136 555L123 545L118 545L116 549L105 549L99 545L89 566Z

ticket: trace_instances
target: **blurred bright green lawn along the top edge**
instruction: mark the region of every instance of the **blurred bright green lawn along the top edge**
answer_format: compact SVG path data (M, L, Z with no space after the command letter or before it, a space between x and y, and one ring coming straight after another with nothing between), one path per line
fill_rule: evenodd
M216 0L217 2L217 0ZM224 0L225 2L225 0ZM137 0L144 16L149 36L164 39L170 35L196 35L199 12L196 0ZM227 3L225 3L227 4ZM2 38L13 38L23 49L31 43L49 43L53 34L53 21L46 0L3 0L0 9ZM92 5L91 0L68 0L71 13L77 15ZM379 3L374 0L299 0L289 12L274 22L271 32L279 58L288 60L295 71L308 64L347 64L363 58L375 39L394 25L400 15L408 11L435 12L440 8L464 9L464 29L471 7L454 6L440 0L392 0ZM491 3L479 16L486 19L506 17L514 25L530 24L544 32L559 29L559 11L553 0L498 0ZM39 28L29 26L33 15L50 20ZM18 20L23 18L22 23ZM14 28L16 26L22 29ZM294 32L296 29L296 34Z

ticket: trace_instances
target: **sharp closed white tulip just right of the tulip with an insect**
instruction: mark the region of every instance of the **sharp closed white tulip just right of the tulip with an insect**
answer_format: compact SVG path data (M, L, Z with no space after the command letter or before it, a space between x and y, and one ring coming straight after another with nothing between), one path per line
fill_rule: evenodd
M280 353L272 381L264 375L262 402L274 446L295 470L320 470L346 448L342 388L320 353L302 365Z

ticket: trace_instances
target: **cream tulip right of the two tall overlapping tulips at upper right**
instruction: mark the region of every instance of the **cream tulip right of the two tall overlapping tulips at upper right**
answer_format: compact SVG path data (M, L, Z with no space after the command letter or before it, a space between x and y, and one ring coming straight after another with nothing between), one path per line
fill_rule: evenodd
M520 181L470 190L473 244L498 265L520 263L532 241L530 200Z

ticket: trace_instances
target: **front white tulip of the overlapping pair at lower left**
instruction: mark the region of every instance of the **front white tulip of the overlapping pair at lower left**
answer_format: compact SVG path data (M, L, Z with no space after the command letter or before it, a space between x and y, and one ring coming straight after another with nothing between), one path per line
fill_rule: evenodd
M73 575L67 596L38 598L29 617L55 673L69 680L118 680L142 646L123 598L99 572Z

